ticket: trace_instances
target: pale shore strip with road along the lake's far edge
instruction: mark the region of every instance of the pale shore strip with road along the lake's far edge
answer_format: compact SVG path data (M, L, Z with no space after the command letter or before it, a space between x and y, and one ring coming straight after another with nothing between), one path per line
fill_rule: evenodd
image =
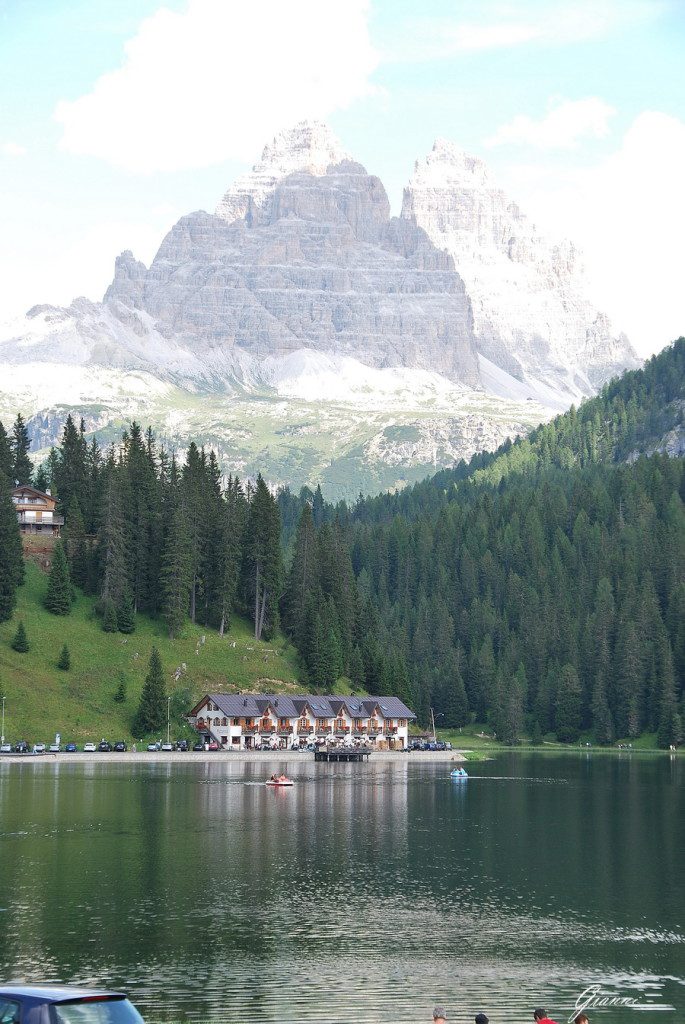
M459 751L413 751L411 754L402 754L399 751L373 751L370 755L371 762L382 762L385 764L435 764L439 761L466 761ZM97 764L127 763L152 764L156 762L188 764L189 762L215 762L222 761L229 764L254 763L263 761L267 764L313 764L312 753L299 754L296 751L188 751L181 754L177 751L126 751L125 753L109 754L84 754L78 751L76 754L2 754L0 755L0 766L4 764L86 764L97 762Z

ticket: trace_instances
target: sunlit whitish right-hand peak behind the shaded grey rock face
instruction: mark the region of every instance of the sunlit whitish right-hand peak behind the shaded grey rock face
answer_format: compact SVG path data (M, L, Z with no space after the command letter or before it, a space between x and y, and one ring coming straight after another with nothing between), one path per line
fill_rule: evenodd
M402 217L449 253L471 300L478 352L519 380L592 394L639 365L625 335L585 297L571 242L551 243L485 164L445 139L417 161ZM487 381L488 367L483 365Z

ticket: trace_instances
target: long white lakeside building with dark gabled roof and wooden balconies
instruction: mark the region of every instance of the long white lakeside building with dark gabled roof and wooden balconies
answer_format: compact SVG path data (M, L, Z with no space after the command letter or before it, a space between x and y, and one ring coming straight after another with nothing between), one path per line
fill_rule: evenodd
M307 743L402 750L414 712L398 697L208 693L188 713L222 746L272 750Z

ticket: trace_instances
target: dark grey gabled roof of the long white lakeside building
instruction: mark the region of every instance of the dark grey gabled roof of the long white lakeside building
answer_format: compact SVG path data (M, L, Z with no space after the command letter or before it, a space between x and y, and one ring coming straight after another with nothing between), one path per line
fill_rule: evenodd
M189 714L197 715L208 697L227 718L260 718L268 708L277 718L300 718L305 708L311 711L314 718L336 718L341 708L351 718L371 718L376 709L384 718L416 718L399 697L351 697L323 693L294 696L285 693L206 693Z

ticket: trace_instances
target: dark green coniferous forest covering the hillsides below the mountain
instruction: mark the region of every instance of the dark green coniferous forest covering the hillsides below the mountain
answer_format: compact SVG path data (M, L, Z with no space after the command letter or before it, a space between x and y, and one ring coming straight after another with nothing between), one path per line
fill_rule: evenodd
M144 612L257 638L283 629L303 682L395 693L422 722L482 723L505 742L682 739L685 340L527 438L395 495L327 504L222 478L137 424L101 450L70 417L35 469L17 417L0 425L0 620L23 580L10 481L66 516L46 607L98 598L104 630ZM60 549L61 546L58 546ZM49 601L49 603L48 603Z

